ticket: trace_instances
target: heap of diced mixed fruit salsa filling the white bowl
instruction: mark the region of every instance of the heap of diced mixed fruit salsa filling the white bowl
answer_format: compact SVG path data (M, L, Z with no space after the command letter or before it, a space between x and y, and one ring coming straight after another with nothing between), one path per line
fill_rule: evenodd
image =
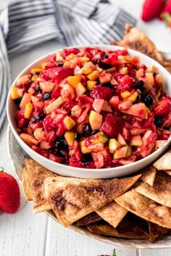
M127 49L63 49L17 79L20 138L49 160L112 168L141 160L170 136L171 97L157 67Z

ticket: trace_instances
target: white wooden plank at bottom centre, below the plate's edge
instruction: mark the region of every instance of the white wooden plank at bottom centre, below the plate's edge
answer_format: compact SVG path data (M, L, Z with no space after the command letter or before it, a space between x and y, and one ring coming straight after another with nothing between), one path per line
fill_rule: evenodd
M114 246L82 236L49 219L45 256L112 255ZM115 247L117 256L135 256L135 249Z

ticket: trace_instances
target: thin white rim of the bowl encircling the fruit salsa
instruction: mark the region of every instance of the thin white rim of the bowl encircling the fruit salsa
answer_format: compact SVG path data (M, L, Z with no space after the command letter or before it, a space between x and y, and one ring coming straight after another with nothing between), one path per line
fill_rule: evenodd
M125 47L122 47L122 46L113 46L113 45L109 45L109 44L92 44L92 45L79 45L79 46L69 46L69 47L64 47L64 48L60 48L60 49L57 49L56 51L51 51L49 52L48 54L44 54L42 57L39 57L37 58L36 60L34 60L33 62L31 62L29 65L27 65L20 73L19 75L17 75L17 77L14 79L14 81L12 82L12 86L10 86L9 88L9 93L7 95L7 119L8 119L8 122L9 122L9 126L10 128L12 129L12 133L14 134L14 136L16 137L16 139L18 141L20 141L20 144L22 145L22 148L24 148L26 146L29 154L35 154L36 157L39 157L40 160L42 161L46 161L47 163L52 163L54 165L56 165L58 168L62 167L62 166L67 166L67 168L69 168L70 170L75 170L75 168L77 170L80 170L80 171L84 171L86 170L86 172L88 173L92 173L94 171L96 171L96 173L104 173L105 172L108 172L108 171L120 171L120 170L125 170L127 167L134 167L138 164L141 164L142 162L145 162L146 160L150 160L152 157L155 157L155 155L158 153L158 152L162 152L162 150L168 146L170 143L171 143L171 136L169 139L167 139L167 141L159 148L157 149L156 151L154 151L153 153L149 154L147 157L144 157L142 158L141 160L138 160L138 161L135 161L135 162L132 162L128 165L122 165L120 167L113 167L113 168L78 168L78 167L73 167L73 166L70 166L70 165L63 165L59 162L54 162L52 160L49 160L48 158L46 157L43 157L41 154L38 154L37 152L35 152L33 149L30 148L30 146L28 146L28 144L25 143L25 141L22 141L22 139L20 138L20 136L18 135L17 131L15 130L14 126L12 125L12 120L11 120L11 117L10 117L10 112L9 112L9 102L10 102L10 89L15 86L16 82L17 82L17 79L20 78L22 75L25 75L25 73L30 69L30 67L33 67L33 65L36 65L38 62L41 62L42 59L45 59L47 58L49 55L51 54L56 54L57 51L63 51L63 49L72 49L72 48L77 48L77 49L83 49L83 48L86 48L86 47L91 47L91 48L96 48L96 47L99 47L101 49L125 49ZM156 60L154 59L151 59L151 57L145 55L145 54L142 54L141 52L139 51L135 51L135 50L132 50L132 49L128 49L128 53L130 54L133 54L135 56L138 55L138 57L140 59L143 59L145 58L147 61L151 62L151 65L155 65L157 66L158 68L162 69L162 73L164 73L164 77L167 76L167 79L170 80L170 84L171 84L171 75L170 73L159 63L157 62Z

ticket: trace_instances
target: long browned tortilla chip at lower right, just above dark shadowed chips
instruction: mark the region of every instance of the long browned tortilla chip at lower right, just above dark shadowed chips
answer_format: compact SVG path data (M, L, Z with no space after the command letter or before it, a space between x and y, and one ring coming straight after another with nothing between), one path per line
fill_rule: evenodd
M114 200L122 207L145 220L149 220L164 228L171 228L171 209L144 197L134 189Z

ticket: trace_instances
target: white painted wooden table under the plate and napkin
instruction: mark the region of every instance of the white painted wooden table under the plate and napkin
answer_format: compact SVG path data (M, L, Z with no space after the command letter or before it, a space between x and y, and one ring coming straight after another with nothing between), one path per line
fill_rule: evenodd
M1 0L5 1L5 0ZM112 0L120 7L139 17L142 0ZM155 20L148 24L138 22L138 27L154 40L162 51L171 52L171 30ZM12 79L37 57L60 47L55 41L39 46L10 60ZM7 154L7 121L0 134L0 166L12 173ZM14 215L0 212L0 256L96 256L112 255L114 247L63 228L41 213L33 215L32 204L26 203L21 190L21 207ZM171 249L141 250L115 247L117 256L169 256Z

